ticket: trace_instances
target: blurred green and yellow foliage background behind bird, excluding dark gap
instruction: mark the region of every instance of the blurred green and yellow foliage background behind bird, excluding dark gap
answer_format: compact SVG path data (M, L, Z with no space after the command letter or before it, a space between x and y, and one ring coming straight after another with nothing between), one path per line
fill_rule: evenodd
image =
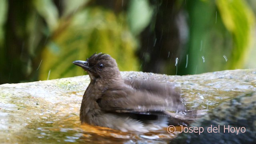
M168 0L156 4L152 0L116 0L112 8L97 2L0 0L0 84L82 75L83 70L72 61L86 60L95 52L110 54L122 71L143 71L137 55L141 50L140 34L148 25L154 26L154 16L161 11L158 5ZM252 66L248 62L253 63L255 56L248 54L255 49L256 2L174 3L174 8L183 11L188 25L186 45L177 50L182 51L177 74ZM165 64L162 73L176 72L171 66L174 63Z

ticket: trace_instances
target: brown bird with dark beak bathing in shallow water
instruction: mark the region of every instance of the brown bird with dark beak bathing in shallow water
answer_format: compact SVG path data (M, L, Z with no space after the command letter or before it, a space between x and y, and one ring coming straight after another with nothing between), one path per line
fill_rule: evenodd
M86 70L90 84L86 89L80 121L116 130L148 132L187 123L170 115L184 112L182 98L166 84L123 80L116 60L108 54L93 54L87 61L73 62Z

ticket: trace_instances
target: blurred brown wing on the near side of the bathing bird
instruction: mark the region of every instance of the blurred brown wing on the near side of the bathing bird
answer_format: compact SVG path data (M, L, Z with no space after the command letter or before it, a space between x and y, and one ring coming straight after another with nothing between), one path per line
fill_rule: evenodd
M161 86L160 86L161 87ZM170 88L159 90L135 89L128 86L115 86L103 92L97 100L100 108L112 112L184 112L184 106L180 95Z

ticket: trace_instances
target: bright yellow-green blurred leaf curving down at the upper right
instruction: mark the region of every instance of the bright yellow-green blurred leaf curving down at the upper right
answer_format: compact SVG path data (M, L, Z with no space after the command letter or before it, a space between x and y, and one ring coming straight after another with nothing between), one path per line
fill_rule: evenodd
M222 21L232 33L234 46L230 68L243 68L244 56L248 51L248 44L254 26L254 14L244 0L217 0Z

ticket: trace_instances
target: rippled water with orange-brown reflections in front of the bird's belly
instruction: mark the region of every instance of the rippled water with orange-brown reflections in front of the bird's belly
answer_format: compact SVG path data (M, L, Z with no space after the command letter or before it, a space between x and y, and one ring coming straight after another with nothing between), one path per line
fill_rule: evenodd
M121 132L110 128L80 125L79 116L70 115L60 119L47 120L45 122L32 122L27 126L30 133L20 137L20 143L167 143L177 136L169 134L166 129L157 132Z

